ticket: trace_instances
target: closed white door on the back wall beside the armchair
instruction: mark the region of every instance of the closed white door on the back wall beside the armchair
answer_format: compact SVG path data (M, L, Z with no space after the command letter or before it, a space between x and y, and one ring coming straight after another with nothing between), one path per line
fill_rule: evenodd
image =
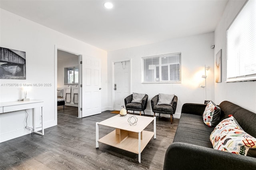
M114 110L120 111L130 95L130 61L114 63Z

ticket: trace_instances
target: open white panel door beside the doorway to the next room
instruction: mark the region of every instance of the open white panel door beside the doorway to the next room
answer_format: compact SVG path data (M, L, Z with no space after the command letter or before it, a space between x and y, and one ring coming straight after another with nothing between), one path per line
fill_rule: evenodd
M101 63L94 57L82 61L82 117L101 113Z

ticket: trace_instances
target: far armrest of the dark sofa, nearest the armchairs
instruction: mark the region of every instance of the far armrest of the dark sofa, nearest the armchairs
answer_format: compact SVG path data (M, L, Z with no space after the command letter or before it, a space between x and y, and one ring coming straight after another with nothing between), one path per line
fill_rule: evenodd
M206 104L185 103L184 105L182 105L181 113L188 113L188 114L202 116L204 113L205 107L206 107Z

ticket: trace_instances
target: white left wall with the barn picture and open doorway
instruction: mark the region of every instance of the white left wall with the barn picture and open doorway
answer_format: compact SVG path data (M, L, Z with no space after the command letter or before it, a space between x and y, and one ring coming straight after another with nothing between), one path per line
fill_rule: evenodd
M107 52L56 32L50 28L0 9L0 46L26 52L26 80L1 79L5 83L49 83L50 87L31 87L27 97L44 100L44 127L57 124L55 105L55 45L78 51L83 57L97 57L102 63L102 109L107 108ZM57 82L57 81L56 81ZM0 86L0 101L18 101L24 97L22 86ZM28 111L29 113L31 111ZM31 116L31 114L30 114ZM25 130L26 113L0 114L0 142L30 133ZM39 119L39 118L38 118ZM83 118L86 119L86 118ZM37 120L40 121L40 120ZM28 125L32 121L28 118Z

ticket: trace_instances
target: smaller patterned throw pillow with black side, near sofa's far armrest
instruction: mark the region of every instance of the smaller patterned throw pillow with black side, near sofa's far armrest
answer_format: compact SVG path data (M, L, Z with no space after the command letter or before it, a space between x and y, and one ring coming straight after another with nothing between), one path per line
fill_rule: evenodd
M210 101L204 110L203 121L208 127L215 127L220 120L220 108Z

